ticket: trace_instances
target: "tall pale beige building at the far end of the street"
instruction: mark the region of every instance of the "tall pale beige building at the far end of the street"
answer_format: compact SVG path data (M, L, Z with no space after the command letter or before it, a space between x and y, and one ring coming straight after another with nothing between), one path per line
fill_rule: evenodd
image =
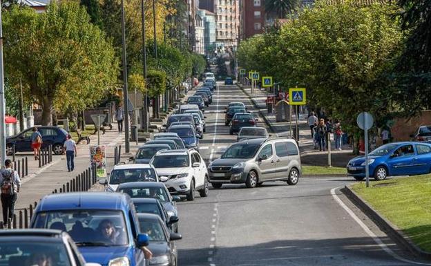
M215 15L215 45L224 50L236 50L238 45L239 0L200 0L199 8Z

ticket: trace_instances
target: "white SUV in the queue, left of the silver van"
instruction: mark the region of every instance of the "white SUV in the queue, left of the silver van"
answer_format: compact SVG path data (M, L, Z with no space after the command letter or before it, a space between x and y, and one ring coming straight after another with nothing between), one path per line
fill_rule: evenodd
M157 151L150 164L172 195L185 195L187 200L194 200L197 190L201 197L208 196L207 165L198 151Z

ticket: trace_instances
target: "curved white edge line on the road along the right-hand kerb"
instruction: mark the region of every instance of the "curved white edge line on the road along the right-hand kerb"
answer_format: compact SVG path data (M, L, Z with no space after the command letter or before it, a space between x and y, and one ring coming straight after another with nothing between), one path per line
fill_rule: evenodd
M402 258L401 256L397 255L394 253L394 251L392 251L392 249L390 249L389 247L387 247L387 245L385 243L382 242L382 240L379 238L379 236L376 236L376 234L374 234L369 227L367 227L367 225L365 225L365 223L363 223L363 221L361 219L358 218L358 216L356 216L356 214L349 209L349 207L347 207L347 205L344 204L343 201L341 201L340 198L338 198L338 196L336 195L335 191L336 189L341 189L341 187L336 187L334 189L331 189L331 195L332 197L334 197L334 199L336 200L336 202L338 202L338 205L340 205L341 207L343 207L343 209L345 211L347 211L347 213L349 213L349 216L353 218L353 220L355 220L356 223L358 223L358 225L360 227L362 227L362 229L365 231L365 233L367 233L368 236L370 236L374 242L379 245L379 247L381 249L383 249L387 254L389 254L390 256L392 256L393 258L395 258L396 260L401 260L404 263L413 263L413 264L417 264L417 265L431 265L430 263L418 263L416 261L413 260L408 260L405 258Z

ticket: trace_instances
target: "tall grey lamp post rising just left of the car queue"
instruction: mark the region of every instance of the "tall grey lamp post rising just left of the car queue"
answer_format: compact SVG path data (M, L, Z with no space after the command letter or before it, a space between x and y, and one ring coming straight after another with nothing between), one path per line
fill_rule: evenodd
M127 86L127 59L126 59L126 26L124 21L124 0L122 4L122 46L123 46L123 96L124 96L124 135L126 153L130 152L130 143L128 141L128 86Z

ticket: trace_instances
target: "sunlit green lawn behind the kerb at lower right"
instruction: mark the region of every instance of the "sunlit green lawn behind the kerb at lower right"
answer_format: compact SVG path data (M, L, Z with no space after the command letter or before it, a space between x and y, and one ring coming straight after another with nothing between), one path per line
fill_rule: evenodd
M431 251L431 175L371 182L368 189L359 182L352 189L421 249Z

